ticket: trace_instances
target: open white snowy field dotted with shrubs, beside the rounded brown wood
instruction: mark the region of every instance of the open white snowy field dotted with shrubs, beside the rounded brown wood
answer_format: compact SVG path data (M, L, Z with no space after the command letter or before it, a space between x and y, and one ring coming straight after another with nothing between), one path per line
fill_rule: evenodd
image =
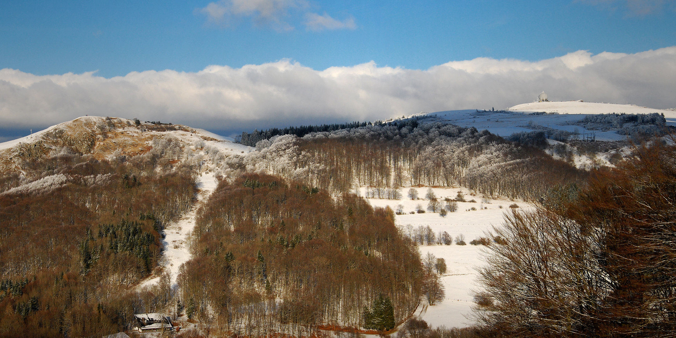
M481 266L482 251L485 247L482 245L470 245L469 242L478 237L485 236L487 231L491 231L493 226L500 226L503 222L504 212L509 212L509 206L516 203L519 210L531 210L533 206L519 200L510 199L487 199L487 203L482 203L481 195L470 195L464 188L433 188L437 198L456 197L458 191L462 191L465 199L475 199L476 203L458 202L458 211L450 212L448 216L442 218L437 213L426 212L425 214L408 214L414 211L420 204L423 209L427 209L429 201L423 200L427 187L414 188L418 190L418 200L411 200L406 197L409 188L402 189L404 197L400 200L395 199L367 199L372 206L390 206L396 210L397 205L404 206L406 214L396 217L397 226L402 231L407 231L407 225L413 228L418 226L430 226L435 233L446 231L452 237L460 234L464 235L467 245L418 245L420 256L425 257L431 253L437 258L443 258L446 261L447 271L441 276L441 281L445 287L446 297L441 304L435 306L420 306L416 314L434 327L445 325L446 327L466 327L472 324L467 317L471 314L473 305L472 290L476 290L475 279L477 278L476 266ZM364 195L365 188L360 193ZM502 206L502 208L500 208ZM476 208L475 211L466 211L470 208ZM480 209L480 208L488 209Z

